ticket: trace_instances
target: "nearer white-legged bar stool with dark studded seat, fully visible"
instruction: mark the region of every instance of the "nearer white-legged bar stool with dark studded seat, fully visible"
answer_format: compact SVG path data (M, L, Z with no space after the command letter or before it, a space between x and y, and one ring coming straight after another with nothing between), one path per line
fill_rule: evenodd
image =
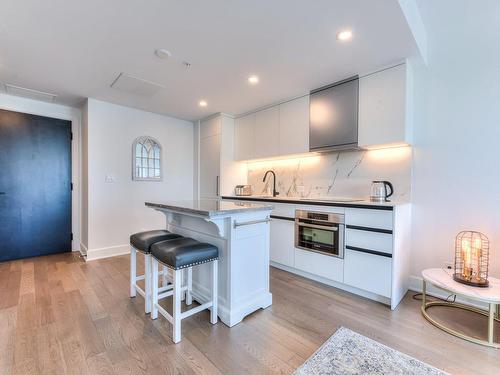
M151 319L158 318L158 313L163 315L173 326L172 341L178 343L181 341L181 321L193 314L205 309L210 309L210 322L217 323L217 263L219 259L219 250L216 246L201 243L192 238L182 237L170 241L157 242L151 246L153 280L158 278L158 262L173 270L173 290L159 293L158 283L153 283L153 306L151 309ZM211 300L200 306L181 311L181 294L185 289L182 287L182 270L188 270L188 287L186 291L186 303L190 302L191 286L190 276L194 266L212 262L212 285ZM173 296L173 309L170 315L163 307L159 305L159 300ZM189 303L188 303L189 304Z

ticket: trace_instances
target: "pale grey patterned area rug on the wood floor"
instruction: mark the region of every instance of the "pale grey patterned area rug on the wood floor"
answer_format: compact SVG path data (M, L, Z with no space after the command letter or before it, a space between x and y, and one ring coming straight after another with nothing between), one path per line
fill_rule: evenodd
M294 374L449 375L344 327L340 327Z

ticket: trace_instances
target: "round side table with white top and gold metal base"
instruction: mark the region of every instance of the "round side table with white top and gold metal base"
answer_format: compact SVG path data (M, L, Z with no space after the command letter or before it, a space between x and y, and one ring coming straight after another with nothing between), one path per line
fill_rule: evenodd
M500 349L500 342L494 341L494 325L495 321L500 322L500 280L489 277L489 286L486 288L478 288L465 284L461 284L453 280L453 271L442 268L431 268L422 271L422 315L433 325L461 339L490 346ZM488 310L482 310L477 307L465 305L458 302L446 301L427 301L427 284L433 285L441 290L457 296L466 297L468 299L483 302L488 304ZM428 313L427 309L433 306L447 306L457 309L472 311L488 317L488 340L480 340L472 336L468 336L462 332L456 331L447 327L443 323L434 320Z

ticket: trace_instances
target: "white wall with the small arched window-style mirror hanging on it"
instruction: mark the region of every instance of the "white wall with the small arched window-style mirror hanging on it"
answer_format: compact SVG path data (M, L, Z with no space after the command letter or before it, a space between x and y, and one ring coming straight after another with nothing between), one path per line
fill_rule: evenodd
M95 99L88 103L88 259L128 252L134 232L163 228L147 200L193 199L193 124ZM132 143L163 147L163 181L132 181ZM113 175L114 183L105 182Z

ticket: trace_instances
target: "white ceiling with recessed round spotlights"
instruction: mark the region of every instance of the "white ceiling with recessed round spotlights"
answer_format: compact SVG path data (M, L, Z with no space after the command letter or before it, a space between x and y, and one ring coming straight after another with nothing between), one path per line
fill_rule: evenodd
M335 38L343 28L354 32L349 43ZM397 0L2 0L0 12L0 82L64 104L93 97L189 120L240 114L416 54ZM152 97L110 88L121 72L165 88Z

